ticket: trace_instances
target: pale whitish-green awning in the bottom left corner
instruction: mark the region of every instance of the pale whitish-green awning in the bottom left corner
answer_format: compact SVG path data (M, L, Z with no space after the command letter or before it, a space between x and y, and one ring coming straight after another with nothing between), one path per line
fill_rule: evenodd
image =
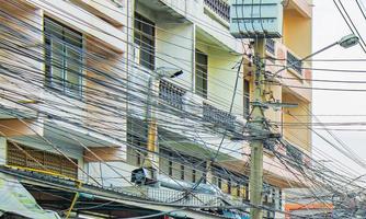
M60 219L56 212L42 209L14 176L0 173L0 214L5 212L34 219Z

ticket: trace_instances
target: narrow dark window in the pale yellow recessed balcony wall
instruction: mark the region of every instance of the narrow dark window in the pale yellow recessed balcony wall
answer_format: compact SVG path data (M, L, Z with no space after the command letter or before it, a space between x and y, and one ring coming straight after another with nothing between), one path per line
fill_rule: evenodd
M196 94L207 99L207 55L196 50Z

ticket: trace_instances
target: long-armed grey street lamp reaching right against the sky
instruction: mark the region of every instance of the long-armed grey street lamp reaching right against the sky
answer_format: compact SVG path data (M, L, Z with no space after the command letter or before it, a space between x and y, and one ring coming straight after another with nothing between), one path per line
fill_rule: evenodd
M300 60L294 61L294 62L291 62L290 65L285 66L284 68L282 68L282 69L279 69L278 71L276 71L276 72L272 76L272 79L274 79L274 77L276 77L281 71L286 70L286 69L288 69L288 68L290 68L290 67L294 67L295 65L297 65L297 64L299 64L299 62L302 62L302 61L305 61L305 60L308 60L309 58L311 58L311 57L313 57L313 56L316 56L316 55L318 55L318 54L320 54L320 53L322 53L322 51L324 51L324 50L327 50L327 49L329 49L329 48L331 48L331 47L333 47L333 46L335 46L335 45L340 45L340 46L342 46L343 48L350 48L350 47L352 47L352 46L357 45L358 42L359 42L358 36L354 35L354 34L350 34L350 35L343 36L340 41L334 42L333 44L331 44L331 45L329 45L329 46L325 46L324 48L321 48L321 49L319 49L318 51L312 53L312 54L310 54L310 55L304 57L304 58L300 59Z

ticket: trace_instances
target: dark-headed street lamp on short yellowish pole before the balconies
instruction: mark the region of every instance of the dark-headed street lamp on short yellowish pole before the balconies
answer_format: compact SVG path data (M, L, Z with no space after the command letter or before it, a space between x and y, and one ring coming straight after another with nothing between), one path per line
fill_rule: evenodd
M153 106L158 104L159 84L163 78L176 78L183 74L183 71L176 68L160 67L157 68L148 81L146 122L148 123L147 155L144 159L142 166L133 171L131 181L137 184L155 184L157 180L153 163L158 162L155 153L157 152L158 124Z

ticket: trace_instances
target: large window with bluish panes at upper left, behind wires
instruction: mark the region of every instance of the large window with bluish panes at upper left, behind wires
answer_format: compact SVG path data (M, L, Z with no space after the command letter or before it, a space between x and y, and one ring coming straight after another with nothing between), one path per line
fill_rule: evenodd
M81 95L82 35L48 18L44 20L46 84Z

